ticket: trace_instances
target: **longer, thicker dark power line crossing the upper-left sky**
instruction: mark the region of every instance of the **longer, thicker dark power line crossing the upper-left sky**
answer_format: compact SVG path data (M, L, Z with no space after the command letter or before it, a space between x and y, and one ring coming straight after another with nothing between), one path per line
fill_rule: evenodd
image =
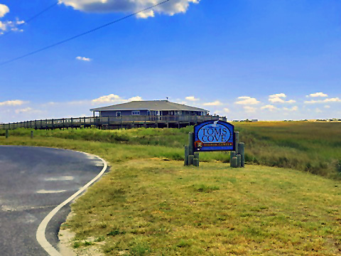
M117 19L117 20L115 20L115 21L111 21L111 22L106 23L106 24L104 24L104 25L102 25L102 26L99 26L99 27L97 27L97 28L93 28L93 29L91 29L90 31L86 31L86 32L80 33L80 34L78 34L78 35L76 35L76 36L72 36L72 37L67 38L67 39L65 39L65 40L63 40L63 41L59 41L58 43L53 43L52 45L50 45L50 46L45 46L45 47L43 47L43 48L40 48L39 50L34 50L34 51L31 52L31 53L26 53L25 55L21 55L21 56L19 56L19 57L17 57L17 58L13 58L13 59L11 59L11 60L6 60L6 61L0 63L0 66L1 66L1 65L6 65L6 64L12 63L13 61L20 60L20 59L25 58L25 57L28 57L28 56L30 56L30 55L39 53L39 52L41 52L41 51L43 51L43 50L47 50L47 49L49 49L49 48L53 48L53 47L55 47L55 46L59 46L59 45L61 45L62 43L66 43L66 42L71 41L71 40L73 40L73 39L75 39L75 38L79 38L80 36L85 36L85 35L87 35L88 33L92 33L92 32L94 32L94 31L97 31L97 30L99 30L99 29L101 29L101 28L110 26L110 25L112 25L112 24L114 24L114 23L117 23L117 22L119 22L119 21L123 21L123 20L125 20L126 18L130 18L131 16L136 16L137 14L140 14L141 12L148 11L149 9L153 9L154 7L159 6L159 5L161 5L161 4L165 4L165 3L168 2L168 1L171 1L171 0L162 1L161 3L155 4L155 5L151 6L151 7L148 7L148 8L146 8L146 9L143 9L143 10L141 10L141 11L136 11L136 13L134 13L134 14L129 14L129 15L127 15L127 16L124 16L123 18L119 18L119 19Z

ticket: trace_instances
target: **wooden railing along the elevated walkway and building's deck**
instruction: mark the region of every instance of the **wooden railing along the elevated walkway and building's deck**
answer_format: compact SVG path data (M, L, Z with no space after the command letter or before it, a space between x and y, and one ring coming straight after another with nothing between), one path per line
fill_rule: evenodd
M13 122L8 124L0 124L0 129L55 129L55 128L76 128L76 127L101 127L118 124L150 124L150 123L188 123L197 124L209 120L226 121L226 117L220 116L197 116L197 115L134 115L121 117L77 117L77 118L61 118L61 119L40 119L25 122Z

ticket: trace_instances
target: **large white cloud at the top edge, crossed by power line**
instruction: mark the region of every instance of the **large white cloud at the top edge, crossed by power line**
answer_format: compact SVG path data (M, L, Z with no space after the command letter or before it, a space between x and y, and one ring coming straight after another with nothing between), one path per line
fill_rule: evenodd
M148 18L158 14L185 13L192 4L198 4L200 0L171 0L158 5L153 9L146 10L138 14L139 18ZM162 0L59 0L60 4L72 6L76 10L87 12L137 12L158 3Z

